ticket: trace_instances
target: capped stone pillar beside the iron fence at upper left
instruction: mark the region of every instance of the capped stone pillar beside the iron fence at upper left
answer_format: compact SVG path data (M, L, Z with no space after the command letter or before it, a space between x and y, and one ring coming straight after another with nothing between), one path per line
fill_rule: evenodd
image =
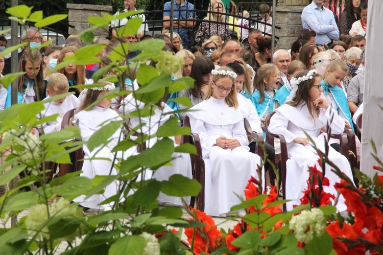
M102 13L110 13L112 11L112 6L104 5L66 4L66 8L69 9L69 25L75 26L75 28L69 28L68 33L73 35L79 34L92 26L88 23L88 17L101 17ZM97 29L93 33L97 37L107 37L109 28Z

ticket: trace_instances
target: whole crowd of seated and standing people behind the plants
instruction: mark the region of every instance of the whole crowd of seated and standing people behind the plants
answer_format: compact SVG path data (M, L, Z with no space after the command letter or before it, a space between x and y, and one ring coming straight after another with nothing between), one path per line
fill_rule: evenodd
M186 0L174 1L175 9L178 11L173 16L173 20L176 21L172 40L168 30L170 11L164 12L162 33L153 37L146 35L145 31L148 29L142 25L136 35L122 37L122 40L129 43L153 38L164 40L163 51L170 51L184 61L184 66L173 74L172 79L189 76L195 80L193 88L179 91L170 97L171 99L189 98L193 104L190 109L195 111L180 112L177 115L169 114L173 110L184 110L188 107L174 103L173 100L161 102L158 105L158 112L153 113L153 118L141 118L141 121L148 123L148 127L155 128L154 124L156 124L158 128L169 118L179 118L181 125L186 116L189 118L192 132L200 136L202 156L205 161L205 212L213 216L226 216L231 206L239 202L234 192L241 194L251 176L258 178L258 166L261 164L259 155L254 154L255 142L247 138L244 118L249 121L254 132L262 133L267 116L275 112L270 120L269 129L273 133L283 134L288 143L290 157L288 176L286 187L281 187L280 192L285 192L286 199L292 200L288 206L291 209L294 204L298 204L299 198L303 195L302 191L306 188L308 175L306 170L308 167L318 165L319 156L303 130L312 136L317 146L323 146L321 141L324 139L325 128L330 119L332 132L339 134L345 128L353 129L355 112L360 114L363 109L367 2L346 0L339 30L336 22L337 14L325 7L326 1L313 0L302 12L303 29L291 45L291 49L278 50L277 41L274 43L275 49L272 49L272 39L269 36L271 30L265 28L266 24L271 24L269 6L259 7L264 27L250 28L246 19L237 21L237 24L242 25L246 30L239 35L242 39L247 37L249 45L245 48L238 41L238 36L231 38L229 25L224 24L226 11L221 0L211 0L209 8L213 13L208 13L205 17L206 22L201 22L199 27L201 34L212 36L208 38L202 35L197 36L200 39L199 44L185 49L187 47L183 41L195 25L192 11L194 6ZM124 12L135 10L135 0L125 0L124 3L126 8ZM165 4L164 9L170 10L170 2ZM246 17L245 15L248 13L243 13L242 16ZM145 21L145 15L137 14L136 16ZM207 21L220 22L208 23ZM116 35L119 29L124 29L127 22L127 18L113 21L111 24L113 35ZM262 33L265 30L267 32ZM30 28L23 32L20 41L28 40L29 47L33 48L40 45L42 39L36 28ZM0 47L4 47L1 42L0 37ZM116 87L125 86L128 90L138 89L139 84L135 80L134 69L123 75L125 84L106 82L102 88L87 90L71 88L76 84L90 84L93 72L111 63L108 55L120 42L98 38L94 43L105 44L105 48L98 54L101 59L100 64L86 66L68 64L54 74L50 74L49 70L63 62L65 57L74 55L82 47L81 40L76 36L69 37L63 47L50 45L41 53L30 51L26 47L18 54L18 71L26 72L26 74L18 79L17 103L28 104L68 91L73 91L75 94L46 105L46 109L51 107L51 110L45 110L44 115L59 113L59 117L56 122L44 124L45 132L59 131L62 128L63 113L72 108L78 108L75 124L80 127L82 139L87 141L95 131L100 129L99 124L117 120L118 114L109 109L111 105L114 107L124 105L127 114L133 111L130 107L132 98L129 96L125 99L118 97L110 101L103 99L91 110L84 109ZM140 54L138 51L127 52L127 62L138 54ZM155 64L150 60L147 63ZM0 58L0 71L3 74L10 73L10 58L5 61ZM115 72L111 70L104 76L108 75L115 75ZM8 90L4 87L0 89L1 109L11 106L10 95L10 87ZM140 107L143 107L143 104ZM139 120L133 121L139 122ZM99 150L97 155L84 145L85 157L97 156L112 159L111 151L118 140L118 132L117 130L113 134L113 139L108 146L104 150ZM337 141L329 141L330 159L352 179L350 165L338 152ZM151 141L152 145L154 142ZM174 143L177 146L179 140L175 138ZM149 147L152 145L148 144ZM360 142L357 138L356 145L359 160ZM278 142L276 141L274 147L267 143L265 146L269 158L274 160L275 154L280 153ZM134 153L138 152L133 150L125 155ZM169 173L191 177L192 167L188 155L179 153L175 155L175 158L173 167L164 167L165 169L158 170L156 172L158 174L154 174L153 177L163 180L169 178ZM104 160L104 165L94 161L87 161L89 163L84 164L84 176L92 178L95 175L116 174L116 170L111 168L110 161ZM262 172L262 177L266 176L265 172L269 173L270 178L267 178L264 188L270 191L271 186L276 184L271 166L265 164L259 171ZM141 178L150 177L152 176L141 176ZM336 191L332 185L339 178L331 171L326 171L326 177L330 179L327 192L335 194ZM116 194L117 188L118 183L115 182L110 184L102 195L92 196L86 200L79 197L76 201L85 207L109 210L114 206L112 203L102 206L99 203ZM170 199L164 195L159 200L180 204L180 200ZM346 209L342 197L337 208L339 211ZM243 215L244 212L237 212L237 214Z

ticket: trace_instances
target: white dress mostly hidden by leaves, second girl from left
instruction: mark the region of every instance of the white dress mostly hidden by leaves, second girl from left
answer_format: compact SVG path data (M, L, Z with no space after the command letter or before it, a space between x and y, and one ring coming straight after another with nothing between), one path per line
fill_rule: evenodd
M137 110L137 107L139 109L142 109L145 106L142 102L135 100L132 96L132 94L128 95L124 101L122 102L121 110L124 110L125 114L130 114L131 112ZM171 114L169 112L172 112L173 109L167 106L165 103L162 103L162 110L159 108L155 108L153 115L148 117L132 117L130 118L130 123L132 124L132 127L135 128L141 124L143 125L139 129L142 133L152 135L157 132L158 128L162 126L167 120L171 118ZM177 117L175 117L177 118ZM134 139L134 137L131 137ZM174 137L169 137L174 141L174 146L178 146L175 143ZM151 138L149 141L147 141L147 148L153 147L153 145L157 142L157 137ZM157 179L158 181L163 180L169 180L170 176L174 174L180 174L185 177L188 177L190 179L193 178L192 175L192 163L190 161L190 155L187 153L179 153L174 152L173 153L173 160L171 161L173 166L163 166L159 169L155 170L153 173L153 178ZM182 205L182 201L180 197L173 197L173 196L167 196L160 192L158 196L158 201L161 203L173 203L177 205ZM190 197L184 197L184 200L187 204L190 203Z

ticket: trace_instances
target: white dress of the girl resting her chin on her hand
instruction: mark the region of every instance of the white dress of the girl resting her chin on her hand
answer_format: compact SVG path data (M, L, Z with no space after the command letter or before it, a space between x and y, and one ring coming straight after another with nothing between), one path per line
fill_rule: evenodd
M319 156L312 145L296 144L293 142L294 139L306 137L304 130L314 140L316 146L324 151L325 134L320 134L321 128L327 125L331 115L333 115L330 124L331 131L333 134L341 134L344 131L345 122L332 107L328 107L327 110L321 108L318 118L314 120L305 104L300 104L297 107L284 104L275 111L276 113L270 120L269 130L272 133L282 134L288 143L289 159L286 162L286 187L283 187L283 190L286 193L286 199L292 200L286 204L288 211L290 211L294 204L300 204L299 199L303 196L302 192L307 188L308 168L316 165L317 169L321 171L318 164ZM343 173L351 180L353 179L350 165L345 156L329 147L328 157ZM337 191L333 185L340 182L340 178L331 171L331 167L327 164L325 176L329 179L330 186L323 187L324 191L337 196ZM344 201L341 195L337 204L337 210L340 212L347 208Z

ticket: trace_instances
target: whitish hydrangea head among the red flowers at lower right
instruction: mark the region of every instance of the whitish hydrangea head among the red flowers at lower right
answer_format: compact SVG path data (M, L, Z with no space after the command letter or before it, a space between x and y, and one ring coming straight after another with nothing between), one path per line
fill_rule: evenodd
M313 240L314 233L317 236L323 234L325 223L322 210L312 208L310 211L302 211L295 215L289 222L289 228L294 231L299 242L308 243Z

